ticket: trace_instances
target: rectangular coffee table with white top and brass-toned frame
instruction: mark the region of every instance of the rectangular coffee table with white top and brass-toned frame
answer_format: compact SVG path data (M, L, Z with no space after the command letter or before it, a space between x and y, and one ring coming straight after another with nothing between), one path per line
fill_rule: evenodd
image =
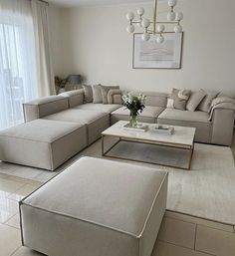
M145 163L153 163L158 165L164 165L169 167L175 168L183 168L183 169L190 169L191 167L191 160L194 150L194 136L196 128L185 128L185 127L176 127L174 126L173 134L162 134L158 133L157 131L153 130L155 124L146 124L142 123L142 125L147 126L146 131L136 131L124 129L123 126L126 125L128 122L119 121L114 126L107 128L102 132L102 155L107 157L113 157L118 159L126 159L126 160L134 160L140 161ZM105 150L105 138L107 136L117 137L117 141L109 146L108 149ZM128 141L128 142L137 142L137 143L145 143L145 144L153 144L159 146L167 146L173 147L176 149L185 149L188 151L188 161L186 167L179 167L172 164L161 164L159 162L154 161L145 161L141 159L131 159L129 157L112 155L110 156L108 153L119 143L120 141Z

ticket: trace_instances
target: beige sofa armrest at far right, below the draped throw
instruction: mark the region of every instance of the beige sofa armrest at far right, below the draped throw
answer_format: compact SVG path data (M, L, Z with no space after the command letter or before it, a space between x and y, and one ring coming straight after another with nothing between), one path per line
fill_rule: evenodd
M234 128L234 110L215 109L212 116L211 142L231 145Z

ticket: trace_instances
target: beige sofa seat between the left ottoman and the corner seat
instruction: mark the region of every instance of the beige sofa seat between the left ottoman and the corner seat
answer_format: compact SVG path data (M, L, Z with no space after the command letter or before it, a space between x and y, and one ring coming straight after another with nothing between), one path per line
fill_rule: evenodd
M101 137L102 131L110 127L110 114L97 111L91 112L79 109L70 109L64 112L50 115L44 119L87 125L88 144L91 144L99 137Z

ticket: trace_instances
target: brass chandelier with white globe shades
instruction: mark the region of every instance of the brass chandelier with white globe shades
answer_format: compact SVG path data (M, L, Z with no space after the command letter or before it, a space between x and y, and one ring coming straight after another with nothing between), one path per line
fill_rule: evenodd
M153 5L153 19L150 21L149 19L143 18L144 9L138 8L137 9L137 15L138 20L134 21L134 13L128 12L126 14L126 19L129 21L129 24L126 28L128 33L134 32L134 25L136 24L138 27L143 28L142 33L142 40L148 41L151 37L151 35L155 36L156 43L161 44L164 42L164 37L162 33L165 30L164 25L174 25L174 32L175 33L181 33L182 27L180 25L180 21L183 19L183 14L181 12L174 12L174 7L177 4L177 0L168 0L168 5L170 7L170 10L167 14L167 21L158 21L157 20L157 0L154 0ZM150 26L152 25L152 28L150 29Z

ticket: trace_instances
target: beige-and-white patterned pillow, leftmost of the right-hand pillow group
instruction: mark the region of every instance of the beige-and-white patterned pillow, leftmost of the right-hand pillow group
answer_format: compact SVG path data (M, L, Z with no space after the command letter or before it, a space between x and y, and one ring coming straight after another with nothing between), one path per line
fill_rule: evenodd
M191 94L190 90L185 89L172 89L172 93L167 100L167 108L174 108L177 110L185 111L186 104Z

